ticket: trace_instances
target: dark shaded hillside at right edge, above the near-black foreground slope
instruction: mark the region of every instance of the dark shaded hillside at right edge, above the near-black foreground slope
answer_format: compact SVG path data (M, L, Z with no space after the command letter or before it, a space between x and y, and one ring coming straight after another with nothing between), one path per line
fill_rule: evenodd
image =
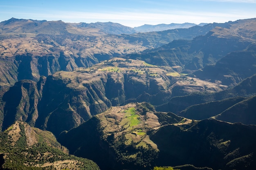
M217 119L231 123L256 124L254 114L255 95L252 97L232 97L220 101L189 106L177 115L188 119Z

